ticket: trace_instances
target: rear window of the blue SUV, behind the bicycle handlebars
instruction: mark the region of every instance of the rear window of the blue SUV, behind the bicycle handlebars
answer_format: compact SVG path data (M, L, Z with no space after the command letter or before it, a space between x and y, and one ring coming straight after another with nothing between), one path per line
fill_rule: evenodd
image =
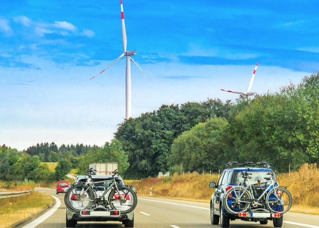
M270 175L267 175L269 173L268 170L265 171L248 171L249 173L252 173L251 179L249 179L250 184L257 183L258 179L260 182L265 182L266 180L264 178L270 178ZM229 185L238 185L244 181L244 178L242 177L242 170L234 170L231 171L228 175L227 183Z

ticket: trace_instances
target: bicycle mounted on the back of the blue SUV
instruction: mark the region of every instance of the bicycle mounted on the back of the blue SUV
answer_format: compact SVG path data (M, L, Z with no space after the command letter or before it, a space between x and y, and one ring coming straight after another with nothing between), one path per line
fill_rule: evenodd
M270 175L270 178L264 178L265 182L258 180L257 183L250 184L249 179L251 178L249 175L252 175L252 173L242 172L244 181L238 186L233 186L225 193L223 199L225 209L231 214L238 214L252 209L264 208L265 205L270 212L286 213L293 205L293 196L286 188L277 185L274 171L267 174ZM268 183L270 184L267 186ZM262 191L259 196L256 192L258 186ZM267 195L265 196L265 194ZM258 198L255 198L255 195Z

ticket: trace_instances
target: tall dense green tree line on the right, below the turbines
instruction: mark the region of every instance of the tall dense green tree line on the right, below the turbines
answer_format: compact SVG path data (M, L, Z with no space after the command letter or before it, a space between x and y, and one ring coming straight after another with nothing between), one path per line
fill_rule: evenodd
M319 73L276 93L236 103L162 106L119 124L115 133L128 154L131 178L159 171L218 171L229 161L267 161L285 172L317 163Z

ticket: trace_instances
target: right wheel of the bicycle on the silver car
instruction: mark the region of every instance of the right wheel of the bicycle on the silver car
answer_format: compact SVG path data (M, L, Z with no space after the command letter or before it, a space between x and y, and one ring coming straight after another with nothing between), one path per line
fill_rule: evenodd
M133 211L138 203L138 197L136 193L125 186L113 189L109 195L109 204L114 210L118 210L121 213L129 213ZM120 197L120 195L122 197Z

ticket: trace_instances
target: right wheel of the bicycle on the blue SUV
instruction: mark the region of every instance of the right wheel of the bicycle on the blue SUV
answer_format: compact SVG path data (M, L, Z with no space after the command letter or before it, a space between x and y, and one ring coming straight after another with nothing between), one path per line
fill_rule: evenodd
M274 213L286 213L293 205L293 196L285 188L275 188L269 191L266 205Z

